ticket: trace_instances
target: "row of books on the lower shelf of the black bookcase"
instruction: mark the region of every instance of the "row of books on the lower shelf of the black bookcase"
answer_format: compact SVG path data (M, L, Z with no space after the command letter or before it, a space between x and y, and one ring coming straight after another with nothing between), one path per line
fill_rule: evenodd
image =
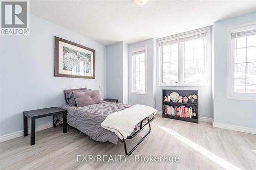
M192 118L193 115L197 114L193 106L186 107L184 105L182 106L163 105L163 109L164 109L163 111L164 114L172 115L172 116Z

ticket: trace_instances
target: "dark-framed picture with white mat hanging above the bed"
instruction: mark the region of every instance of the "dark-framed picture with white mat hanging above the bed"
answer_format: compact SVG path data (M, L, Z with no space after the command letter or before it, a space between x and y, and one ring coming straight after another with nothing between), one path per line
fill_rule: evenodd
M54 76L95 79L95 50L55 37Z

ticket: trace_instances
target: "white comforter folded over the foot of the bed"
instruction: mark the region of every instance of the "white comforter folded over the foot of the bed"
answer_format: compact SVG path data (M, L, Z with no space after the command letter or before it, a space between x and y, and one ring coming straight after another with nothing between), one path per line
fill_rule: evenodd
M120 139L126 139L141 120L151 114L156 114L156 112L156 109L149 106L134 105L128 109L109 114L100 125L102 128L114 132Z

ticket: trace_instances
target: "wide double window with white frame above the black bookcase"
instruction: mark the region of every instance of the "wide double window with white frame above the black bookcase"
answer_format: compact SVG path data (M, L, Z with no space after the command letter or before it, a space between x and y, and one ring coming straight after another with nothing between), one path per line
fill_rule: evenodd
M210 28L158 39L158 84L206 84L207 42Z

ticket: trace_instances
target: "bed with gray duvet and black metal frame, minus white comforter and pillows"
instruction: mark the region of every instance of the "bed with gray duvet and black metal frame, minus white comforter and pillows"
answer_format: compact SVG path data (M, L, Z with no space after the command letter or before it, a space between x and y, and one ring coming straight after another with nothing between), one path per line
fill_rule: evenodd
M109 141L114 144L118 143L120 140L124 145L124 150L126 155L131 155L132 152L138 147L138 145L144 140L144 138L150 133L151 125L150 123L154 120L154 114L151 114L148 117L145 117L143 120L138 123L130 136L126 139L132 139L135 137L140 131L144 129L147 125L149 126L149 131L145 136L139 141L138 144L130 151L127 152L126 141L125 139L120 139L118 136L111 132L110 130L104 129L101 126L101 123L105 120L105 118L112 113L128 109L130 105L114 103L114 102L105 102L98 104L92 104L88 106L76 107L70 106L69 104L62 106L62 109L67 110L67 123L76 128L80 133L84 133L90 137L90 139L105 142ZM60 117L54 117L55 122L57 122Z

